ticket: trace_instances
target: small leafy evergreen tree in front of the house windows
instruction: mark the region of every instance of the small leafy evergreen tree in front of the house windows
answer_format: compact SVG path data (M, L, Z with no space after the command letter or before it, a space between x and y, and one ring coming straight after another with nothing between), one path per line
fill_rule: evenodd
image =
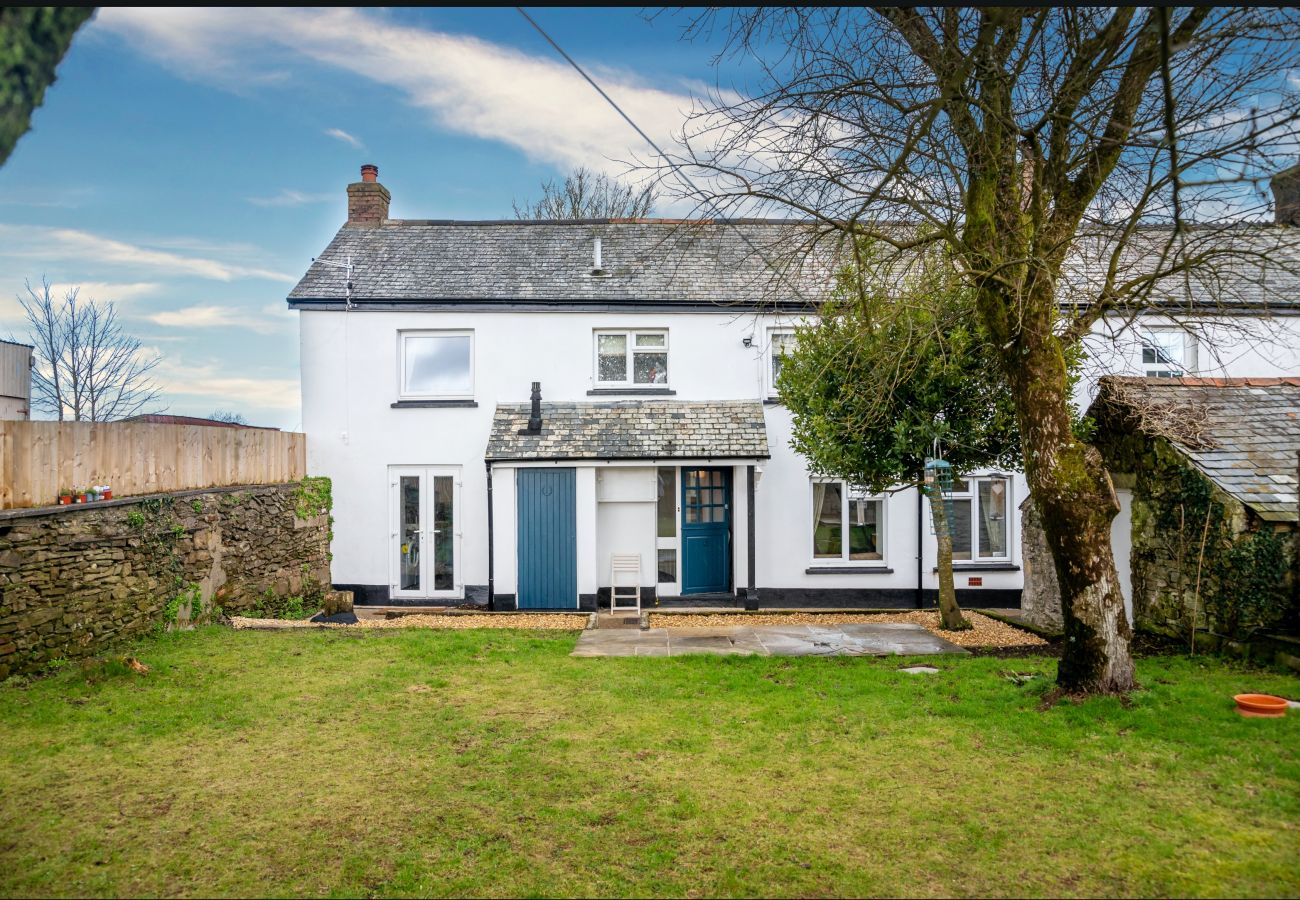
M974 291L932 256L889 285L841 273L820 317L796 330L776 384L794 417L792 445L814 472L872 493L928 494L940 622L957 631L970 623L953 583L952 516L937 485L926 484L926 459L937 442L954 476L1017 467L1020 443Z

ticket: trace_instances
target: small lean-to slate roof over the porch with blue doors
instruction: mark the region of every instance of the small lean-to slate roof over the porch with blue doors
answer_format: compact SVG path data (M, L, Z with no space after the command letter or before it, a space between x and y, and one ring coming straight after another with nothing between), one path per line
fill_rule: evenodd
M542 403L540 434L528 428L529 403L500 403L488 459L767 459L758 401L616 401Z

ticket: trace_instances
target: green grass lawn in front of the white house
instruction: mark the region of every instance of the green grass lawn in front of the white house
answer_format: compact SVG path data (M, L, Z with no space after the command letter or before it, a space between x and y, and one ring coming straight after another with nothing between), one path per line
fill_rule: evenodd
M566 633L233 632L0 687L0 895L1300 893L1294 678L1046 659L572 659Z

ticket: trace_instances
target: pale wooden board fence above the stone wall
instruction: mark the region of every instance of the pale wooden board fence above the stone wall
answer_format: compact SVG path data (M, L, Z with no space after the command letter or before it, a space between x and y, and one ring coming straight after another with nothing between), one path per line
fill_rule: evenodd
M64 488L117 497L307 475L307 436L261 428L135 421L0 421L0 510L51 506Z

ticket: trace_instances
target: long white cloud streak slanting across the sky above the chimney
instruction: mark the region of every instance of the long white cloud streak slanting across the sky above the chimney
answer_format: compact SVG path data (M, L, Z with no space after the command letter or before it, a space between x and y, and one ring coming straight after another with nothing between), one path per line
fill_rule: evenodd
M532 56L467 35L396 25L355 9L101 9L95 30L113 33L174 72L243 90L259 65L285 51L398 90L434 125L516 147L532 159L590 165L645 152L630 129L582 78L552 55ZM602 69L606 91L655 140L679 131L688 92Z

